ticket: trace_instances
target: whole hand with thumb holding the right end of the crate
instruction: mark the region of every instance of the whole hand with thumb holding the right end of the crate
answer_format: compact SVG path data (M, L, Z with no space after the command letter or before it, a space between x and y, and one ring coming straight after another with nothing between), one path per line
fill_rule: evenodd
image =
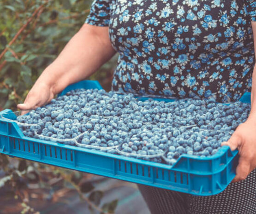
M222 145L228 145L232 151L239 150L236 177L232 182L246 179L248 174L256 168L256 118L249 117Z

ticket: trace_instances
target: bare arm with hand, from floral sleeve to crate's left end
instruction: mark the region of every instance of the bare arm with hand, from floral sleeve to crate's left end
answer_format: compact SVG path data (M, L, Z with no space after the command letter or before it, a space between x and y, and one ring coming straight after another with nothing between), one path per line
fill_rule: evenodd
M31 88L21 110L29 110L50 102L68 85L87 78L115 54L108 27L84 24L68 42Z

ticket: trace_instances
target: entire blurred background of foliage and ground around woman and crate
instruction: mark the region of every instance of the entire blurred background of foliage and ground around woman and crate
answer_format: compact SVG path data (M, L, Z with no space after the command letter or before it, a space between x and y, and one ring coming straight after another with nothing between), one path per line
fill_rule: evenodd
M0 1L0 110L17 110L91 0ZM92 80L110 90L117 56ZM137 186L0 154L0 214L149 214Z

